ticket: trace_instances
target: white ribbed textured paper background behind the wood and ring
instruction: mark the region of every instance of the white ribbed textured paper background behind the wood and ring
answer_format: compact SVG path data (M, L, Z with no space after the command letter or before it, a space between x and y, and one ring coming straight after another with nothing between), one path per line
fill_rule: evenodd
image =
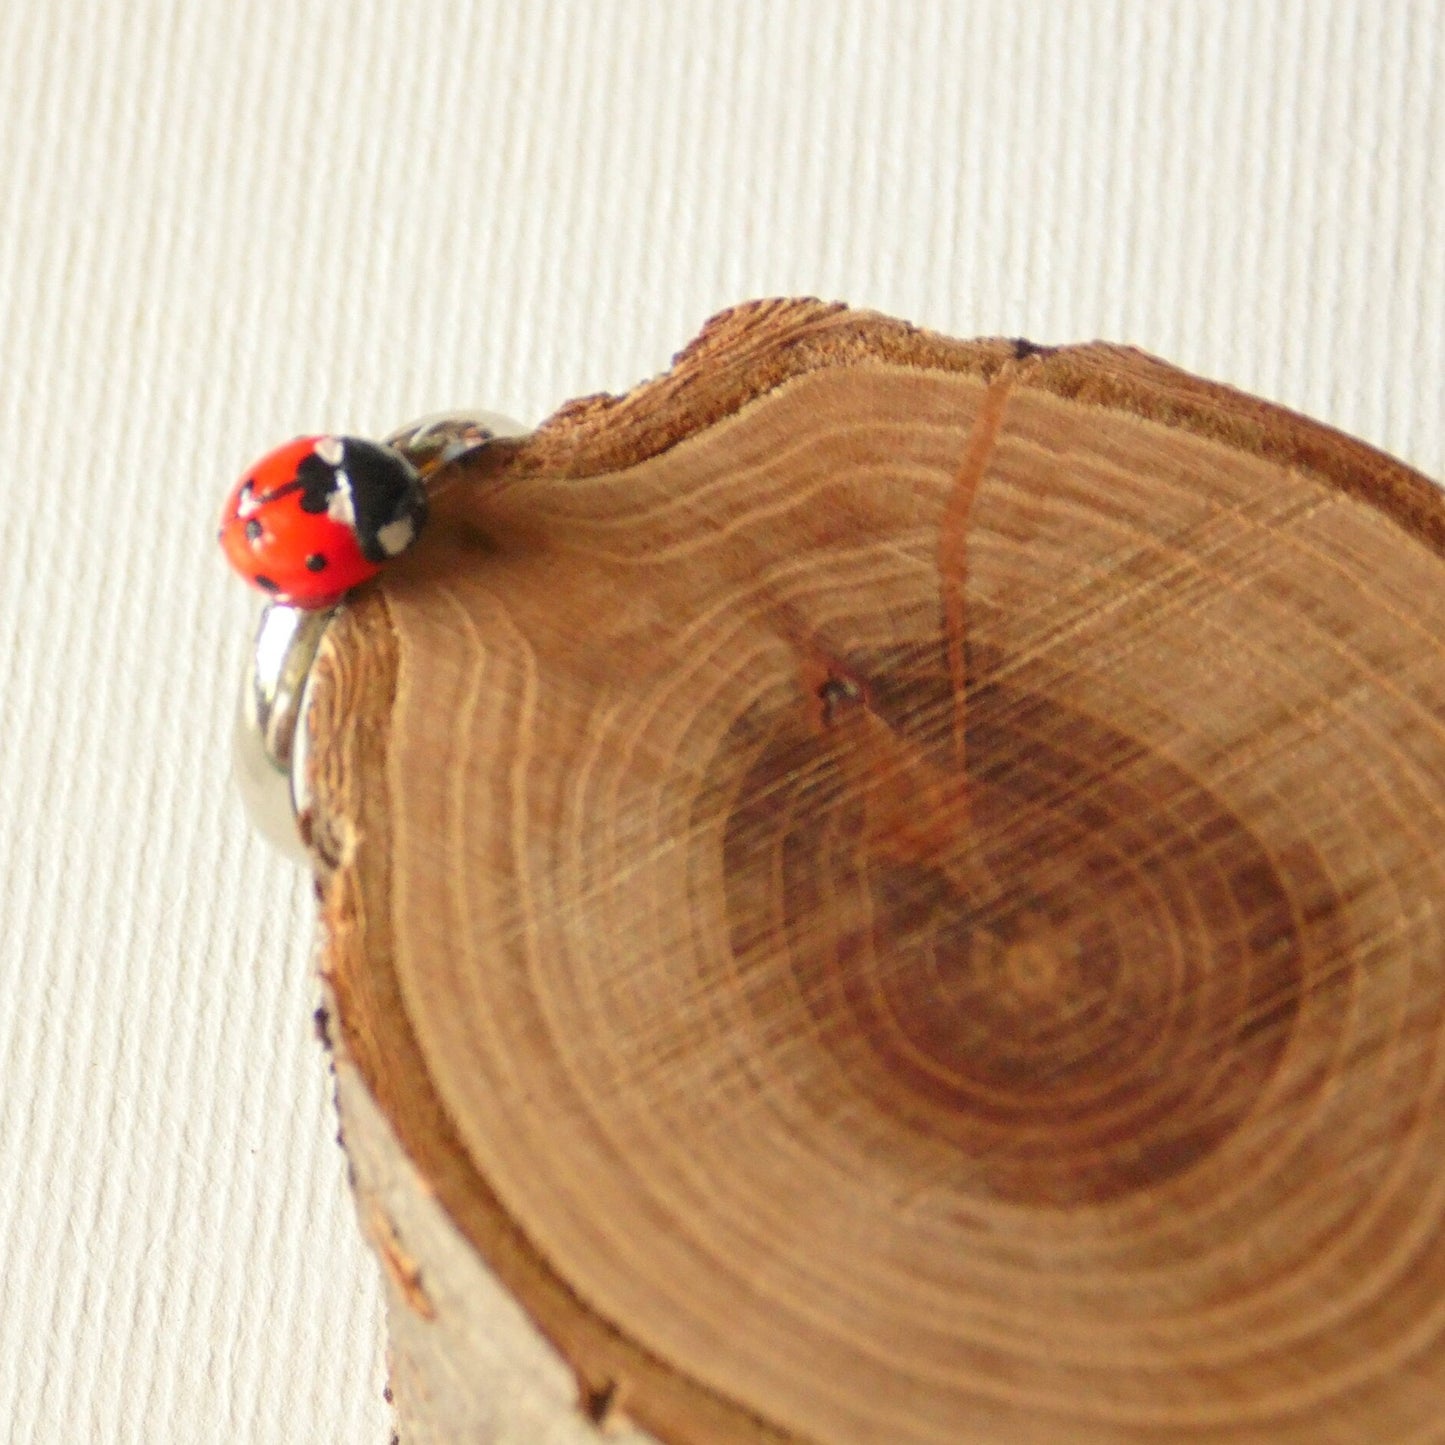
M387 1439L223 490L818 293L1445 473L1445 0L0 0L0 1439Z

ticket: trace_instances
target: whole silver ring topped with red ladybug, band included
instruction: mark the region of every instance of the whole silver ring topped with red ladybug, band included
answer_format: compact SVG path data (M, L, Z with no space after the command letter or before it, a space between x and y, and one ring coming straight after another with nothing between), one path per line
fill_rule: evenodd
M405 552L426 523L428 496L454 461L526 428L504 416L428 418L383 442L301 436L231 488L218 540L267 604L241 688L236 775L251 819L305 858L305 704L327 623L354 587Z

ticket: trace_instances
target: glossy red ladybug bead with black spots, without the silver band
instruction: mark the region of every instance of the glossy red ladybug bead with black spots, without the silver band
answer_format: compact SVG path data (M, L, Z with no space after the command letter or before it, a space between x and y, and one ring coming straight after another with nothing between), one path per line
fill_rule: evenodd
M301 436L231 490L221 549L253 587L292 607L332 607L405 552L426 520L422 474L393 447Z

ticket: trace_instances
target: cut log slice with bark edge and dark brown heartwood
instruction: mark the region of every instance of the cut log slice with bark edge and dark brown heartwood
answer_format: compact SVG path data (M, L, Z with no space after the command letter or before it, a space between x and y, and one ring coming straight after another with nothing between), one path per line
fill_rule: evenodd
M311 715L403 1439L1445 1439L1442 552L815 302L471 465Z

